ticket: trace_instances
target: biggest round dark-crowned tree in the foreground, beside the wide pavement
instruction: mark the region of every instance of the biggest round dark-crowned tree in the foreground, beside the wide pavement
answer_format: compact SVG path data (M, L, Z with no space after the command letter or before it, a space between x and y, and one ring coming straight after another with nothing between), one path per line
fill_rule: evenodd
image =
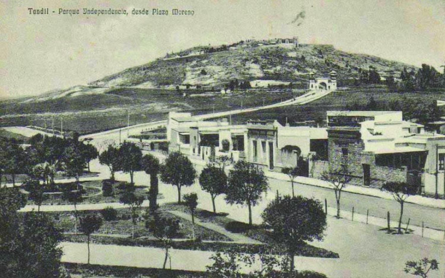
M326 214L320 201L302 196L277 197L267 205L261 217L272 229L273 240L286 247L290 270L294 270L295 253L304 241L322 240L326 229Z

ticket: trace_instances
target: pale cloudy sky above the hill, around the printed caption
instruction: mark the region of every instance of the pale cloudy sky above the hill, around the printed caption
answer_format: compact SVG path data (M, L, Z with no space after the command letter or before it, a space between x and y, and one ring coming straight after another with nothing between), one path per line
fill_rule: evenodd
M0 98L85 85L166 52L247 38L298 36L441 72L445 64L445 0L103 2L0 0ZM29 15L28 8L50 14ZM194 15L69 16L59 8L179 8Z

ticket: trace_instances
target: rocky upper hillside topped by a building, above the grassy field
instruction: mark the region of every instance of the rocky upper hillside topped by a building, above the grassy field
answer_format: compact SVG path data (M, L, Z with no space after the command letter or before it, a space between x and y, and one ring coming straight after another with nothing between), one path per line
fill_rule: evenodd
M95 86L136 86L174 89L177 85L218 87L231 80L274 80L293 83L307 80L307 73L331 70L342 81L359 78L359 70L374 67L381 77L400 75L412 65L365 54L336 50L332 45L276 44L269 41L239 42L229 46L196 47L171 53L150 63L128 68L92 82Z

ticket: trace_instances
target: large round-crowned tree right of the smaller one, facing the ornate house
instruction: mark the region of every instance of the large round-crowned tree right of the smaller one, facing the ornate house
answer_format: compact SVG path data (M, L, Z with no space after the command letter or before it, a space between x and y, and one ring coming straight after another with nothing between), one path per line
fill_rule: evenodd
M238 161L230 170L226 189L226 201L229 204L247 205L249 225L252 225L252 206L261 199L261 193L267 191L267 177L255 164Z

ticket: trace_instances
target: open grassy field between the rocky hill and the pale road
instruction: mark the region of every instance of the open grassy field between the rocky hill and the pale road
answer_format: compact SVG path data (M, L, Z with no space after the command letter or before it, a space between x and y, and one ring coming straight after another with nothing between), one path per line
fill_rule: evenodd
M193 91L192 91L193 92ZM297 92L297 95L301 92ZM60 98L57 105L54 100L10 103L0 103L0 115L4 126L35 125L44 127L52 125L56 129L61 126L58 113L64 113L64 131L77 131L81 134L100 132L103 130L125 127L128 112L130 125L149 121L165 120L169 111L190 112L192 114L213 113L232 109L255 107L276 103L291 98L293 92L289 89L275 92L253 90L249 93L235 93L231 96L216 94L212 97L199 95L182 97L172 90L161 89L115 89L100 95L85 95L70 98ZM214 105L214 106L213 106ZM48 107L55 109L46 110ZM22 114L27 112L26 114ZM46 113L46 114L44 114ZM48 114L49 113L49 114ZM8 115L8 116L6 116ZM142 116L143 115L143 116Z

